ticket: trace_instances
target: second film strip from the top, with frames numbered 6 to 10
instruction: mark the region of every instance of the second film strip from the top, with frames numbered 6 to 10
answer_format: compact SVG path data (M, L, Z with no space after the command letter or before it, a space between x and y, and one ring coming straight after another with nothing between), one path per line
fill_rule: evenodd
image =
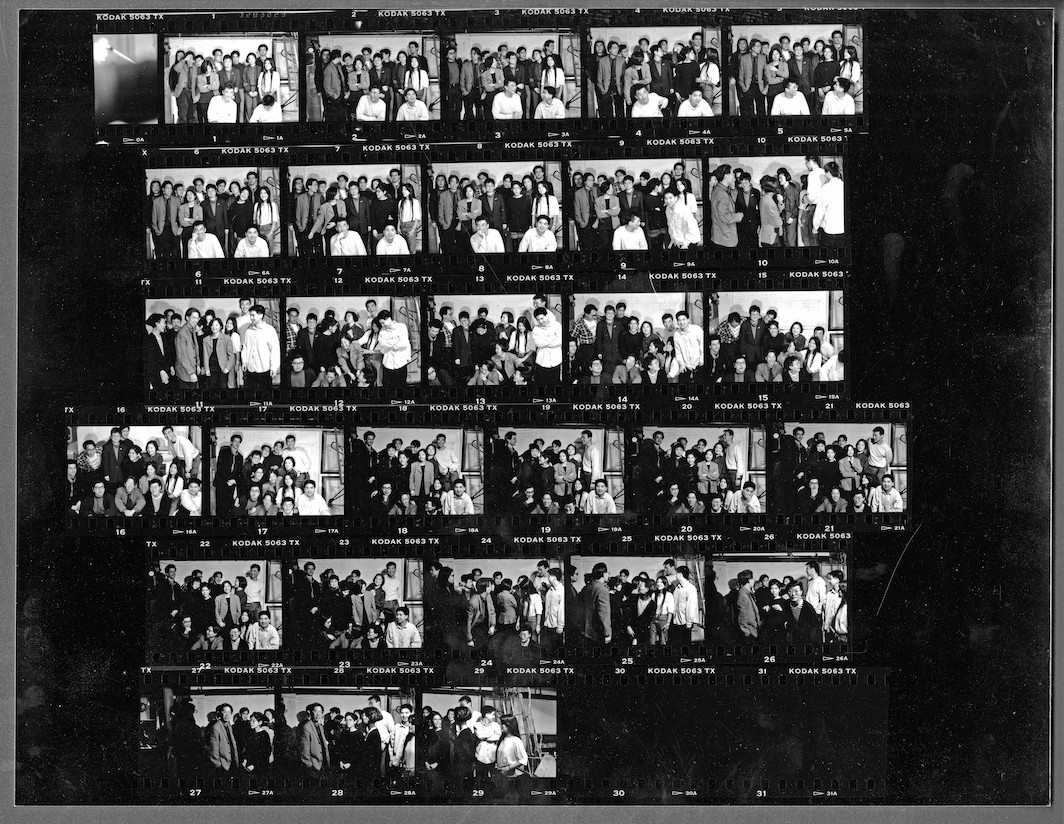
M148 278L804 280L851 261L841 135L145 148L138 161Z

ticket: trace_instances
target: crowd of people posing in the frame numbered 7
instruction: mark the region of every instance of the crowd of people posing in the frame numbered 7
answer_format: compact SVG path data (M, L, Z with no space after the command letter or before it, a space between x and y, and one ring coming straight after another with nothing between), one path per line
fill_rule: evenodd
M358 170L354 172L358 175ZM421 250L420 178L398 168L387 177L340 172L292 179L288 221L296 242L292 253L358 258L417 254Z

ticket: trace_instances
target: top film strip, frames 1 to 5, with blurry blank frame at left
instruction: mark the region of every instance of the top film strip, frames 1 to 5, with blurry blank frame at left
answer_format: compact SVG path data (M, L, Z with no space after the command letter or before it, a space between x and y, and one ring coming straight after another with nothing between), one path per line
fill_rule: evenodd
M105 146L867 131L855 10L114 13L93 32Z

